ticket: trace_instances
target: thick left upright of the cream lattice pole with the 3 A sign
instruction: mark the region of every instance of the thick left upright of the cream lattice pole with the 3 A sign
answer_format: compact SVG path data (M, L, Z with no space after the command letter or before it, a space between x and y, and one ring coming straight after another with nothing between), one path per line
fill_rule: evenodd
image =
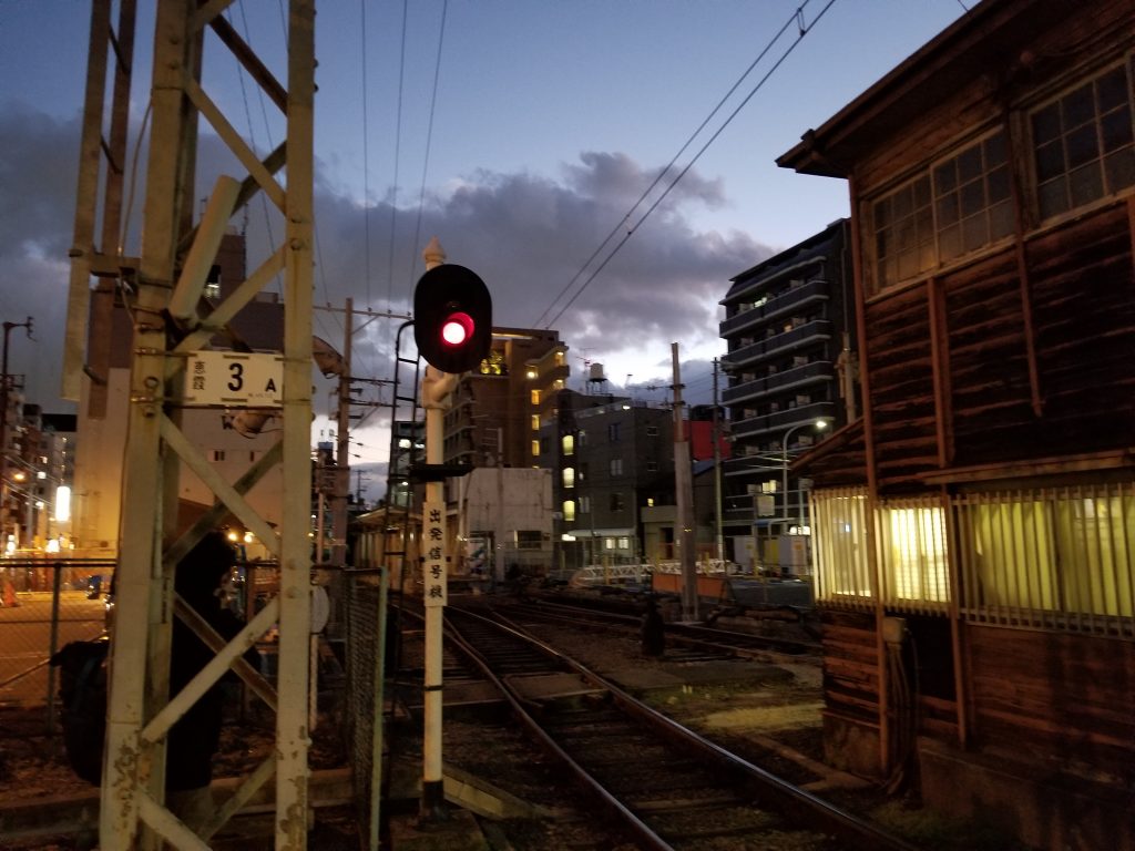
M154 849L159 843L153 831L140 825L140 815L144 809L161 809L165 741L148 740L142 728L169 689L167 613L173 603L173 582L162 559L162 539L166 529L173 531L176 522L177 469L167 463L161 441L168 357L162 311L175 281L186 177L192 186L185 137L193 130L195 115L184 94L184 79L195 76L197 68L196 40L190 37L187 23L188 5L184 0L158 5L151 93L153 129L133 313L134 351L116 579L117 623L100 811L103 851ZM192 189L188 194L192 195Z

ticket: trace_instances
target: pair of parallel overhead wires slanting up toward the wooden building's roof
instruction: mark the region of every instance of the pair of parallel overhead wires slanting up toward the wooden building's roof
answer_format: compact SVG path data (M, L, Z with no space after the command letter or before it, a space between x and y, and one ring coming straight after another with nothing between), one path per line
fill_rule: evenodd
M575 273L575 276L560 292L560 294L556 295L556 297L552 301L552 304L548 305L547 310L545 310L544 313L540 314L540 318L537 319L537 321L536 321L537 326L539 326L544 321L545 317L548 315L548 313L555 306L556 302L558 302L561 298L563 298L563 296L571 289L571 287L575 284L575 281L579 280L582 277L582 275L587 270L587 268L591 264L591 262L597 256L599 256L599 254L611 243L611 241L614 239L615 235L621 229L623 229L625 227L625 222L630 220L630 218L634 214L634 211L639 207L641 207L641 204L646 201L646 199L650 194L650 192L653 192L654 188L662 182L663 177L665 177L665 175L670 171L670 169L678 161L678 159L682 155L682 153L684 153L684 151L692 144L693 140L698 135L700 135L701 130L705 129L705 127L709 124L709 121L713 119L713 117L715 115L717 115L718 111L721 111L721 109L724 106L724 103L740 87L741 83L753 73L753 69L772 50L772 48L776 44L776 42L780 41L781 36L783 36L783 34L791 27L791 25L792 24L797 25L797 37L792 41L792 43L789 44L788 48L784 50L784 52L782 52L780 54L780 57L776 59L776 61L773 62L773 66L767 71L765 71L764 76L762 76L760 79L757 81L756 85L754 85L753 89L749 90L749 93L745 95L745 98L733 109L733 111L730 112L729 116L725 117L725 120L722 121L721 126L717 127L717 129L714 130L713 135L709 136L709 138L705 142L705 144L703 144L701 148L698 149L697 153L695 153L693 157L690 159L690 161L688 163L686 163L686 166L682 168L682 170L679 171L678 175L666 185L666 187L658 195L658 197L655 199L654 202L639 217L638 221L636 221L630 228L627 228L627 230L623 234L622 238L620 238L619 242L615 243L614 247L603 259L603 262L599 263L599 266L596 267L596 269L589 276L587 276L587 278L583 280L583 283L575 290L574 295L572 295L571 298L569 298L568 302L555 313L555 315L553 315L548 320L547 325L544 326L545 328L550 328L553 325L555 325L556 321L560 319L560 317L562 317L564 314L564 312L569 307L571 307L572 304L575 303L575 300L579 298L579 296L583 294L583 292L591 284L591 281L595 280L599 276L599 273L606 268L607 263L609 263L614 259L614 256L620 252L620 250L623 247L623 245L625 245L627 242L634 235L634 231L637 231L642 226L642 224L657 209L658 204L661 204L666 199L666 196L674 189L674 187L687 175L687 172L689 172L689 170L691 168L693 168L693 165L699 159L701 159L701 155L709 149L709 146L717 140L717 137L733 121L733 119L738 116L738 113L740 113L740 111L742 109L745 109L745 107L748 104L748 102L750 100L753 100L754 95L756 95L756 93L758 91L760 91L760 89L768 81L768 78L776 71L777 68L780 68L780 66L784 62L784 60L788 59L788 57L792 53L792 51L796 49L796 47L804 40L804 36L806 36L809 32L812 32L812 27L814 27L819 22L819 19L824 17L824 15L827 12L827 10L830 8L832 8L832 6L835 3L835 0L827 0L827 3L824 6L823 9L819 10L819 14L816 15L815 19L812 22L810 25L805 24L805 20L804 20L804 9L807 7L808 2L810 2L810 0L805 0L804 5L800 6L796 11L793 11L792 15L789 17L789 19L784 23L784 25L776 32L776 34L772 39L770 39L768 43L760 51L760 53L757 56L757 58L749 65L748 68L746 68L745 73L741 74L741 76L732 85L732 87L729 90L729 92L726 92L726 94L717 102L717 104L713 108L713 110L711 110L709 115L706 116L706 118L701 121L701 124L698 126L698 128L692 134L690 134L690 137L686 141L686 143L681 146L681 149L679 149L678 153L674 154L673 159L671 159L671 161L666 165L666 167L658 174L658 176L650 183L650 185L646 188L646 191L631 205L630 210L628 210L627 214L623 216L622 219L620 219L619 224L615 225L614 228L612 228L611 233L607 234L606 238L603 241L603 243L600 243L599 247L596 248L595 252L592 252L591 256L589 256L587 259L587 261L583 263L583 266L580 267L580 270Z

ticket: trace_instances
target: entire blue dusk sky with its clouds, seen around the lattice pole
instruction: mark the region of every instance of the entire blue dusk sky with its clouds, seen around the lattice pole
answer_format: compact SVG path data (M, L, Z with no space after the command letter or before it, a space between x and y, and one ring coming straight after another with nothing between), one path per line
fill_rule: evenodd
M973 5L807 0L798 14L800 0L322 0L316 303L352 296L358 309L405 313L436 235L451 262L488 284L496 325L560 331L572 387L602 363L612 391L662 402L676 342L687 399L708 402L729 279L848 213L843 182L779 169L775 158ZM132 155L153 32L153 3L140 7ZM228 12L280 81L285 8L238 0ZM0 0L0 314L33 317L34 342L23 329L10 336L9 372L49 411L70 410L58 402L60 334L89 10L84 0ZM263 153L283 120L243 82L210 35L204 87ZM202 132L203 199L218 172L243 172ZM246 226L257 263L283 225L257 199ZM343 339L340 313L317 311L314 328ZM392 328L368 326L355 374L389 376ZM362 460L385 461L382 438L370 443Z

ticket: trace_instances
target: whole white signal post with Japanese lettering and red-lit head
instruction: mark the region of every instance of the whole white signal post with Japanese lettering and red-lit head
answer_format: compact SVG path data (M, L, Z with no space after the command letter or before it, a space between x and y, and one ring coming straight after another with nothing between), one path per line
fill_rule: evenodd
M422 506L422 603L426 608L426 671L422 714L422 820L445 814L442 775L442 643L447 600L448 534L445 479L463 472L445 464L445 412L462 372L488 355L493 340L493 302L485 283L461 266L445 263L437 237L422 252L426 273L414 289L414 342L427 364L421 399L426 408L426 481Z

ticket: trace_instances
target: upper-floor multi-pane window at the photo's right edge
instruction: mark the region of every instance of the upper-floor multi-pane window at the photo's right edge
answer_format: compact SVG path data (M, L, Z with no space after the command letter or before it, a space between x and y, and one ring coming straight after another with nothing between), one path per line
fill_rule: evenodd
M1130 99L1117 66L1032 113L1042 219L1135 185Z

